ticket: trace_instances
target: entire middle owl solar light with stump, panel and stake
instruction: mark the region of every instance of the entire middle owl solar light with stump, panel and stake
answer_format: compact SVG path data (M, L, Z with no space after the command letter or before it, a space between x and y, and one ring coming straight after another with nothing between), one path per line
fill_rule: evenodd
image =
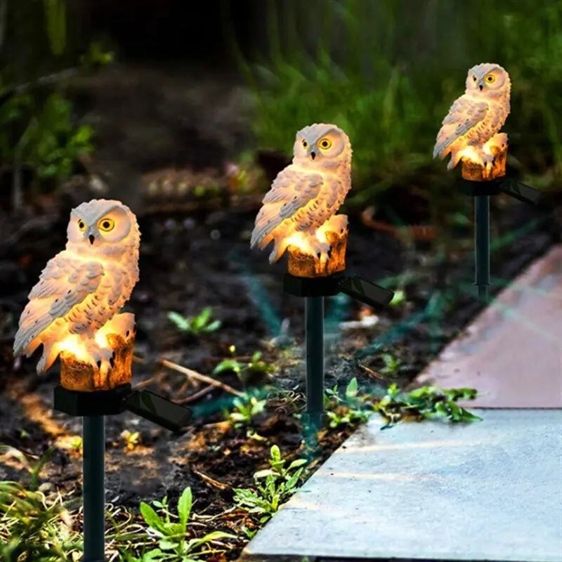
M263 197L251 234L251 247L265 248L274 263L287 251L285 291L305 298L305 431L311 436L324 417L324 297L377 293L379 303L393 296L378 285L346 277L347 216L336 214L351 189L351 143L333 124L315 123L296 133L293 160L277 174ZM349 292L351 291L351 292ZM369 298L368 296L365 298Z

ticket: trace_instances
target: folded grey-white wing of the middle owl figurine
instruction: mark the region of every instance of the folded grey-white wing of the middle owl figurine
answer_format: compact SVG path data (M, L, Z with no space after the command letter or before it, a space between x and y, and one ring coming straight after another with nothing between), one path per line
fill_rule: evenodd
M251 247L268 244L277 226L317 197L322 182L320 174L303 175L291 166L280 171L266 197L263 197L263 207L256 216L256 226L251 233Z

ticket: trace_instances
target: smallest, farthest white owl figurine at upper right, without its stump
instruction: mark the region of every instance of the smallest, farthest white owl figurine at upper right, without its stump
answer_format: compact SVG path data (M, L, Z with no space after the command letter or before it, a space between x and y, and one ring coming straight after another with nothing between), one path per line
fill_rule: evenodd
M455 100L443 119L433 157L445 158L450 154L447 169L454 168L465 157L482 166L490 164L493 157L486 143L509 115L510 92L509 74L501 66L483 63L472 67L464 94Z

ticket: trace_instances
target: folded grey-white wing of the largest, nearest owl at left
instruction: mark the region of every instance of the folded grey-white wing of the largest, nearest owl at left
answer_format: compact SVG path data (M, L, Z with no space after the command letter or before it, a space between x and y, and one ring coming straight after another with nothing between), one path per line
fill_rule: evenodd
M63 252L61 252L63 254ZM39 282L30 292L30 301L20 318L13 344L14 355L32 353L34 340L57 318L96 292L103 278L103 266L97 261L77 261L58 254L48 261Z

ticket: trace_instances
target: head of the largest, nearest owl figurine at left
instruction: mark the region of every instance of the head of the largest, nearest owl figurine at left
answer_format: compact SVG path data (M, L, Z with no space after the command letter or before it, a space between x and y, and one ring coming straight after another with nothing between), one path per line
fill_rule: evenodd
M93 199L72 209L67 237L74 247L113 254L138 249L141 234L129 207L120 201Z

